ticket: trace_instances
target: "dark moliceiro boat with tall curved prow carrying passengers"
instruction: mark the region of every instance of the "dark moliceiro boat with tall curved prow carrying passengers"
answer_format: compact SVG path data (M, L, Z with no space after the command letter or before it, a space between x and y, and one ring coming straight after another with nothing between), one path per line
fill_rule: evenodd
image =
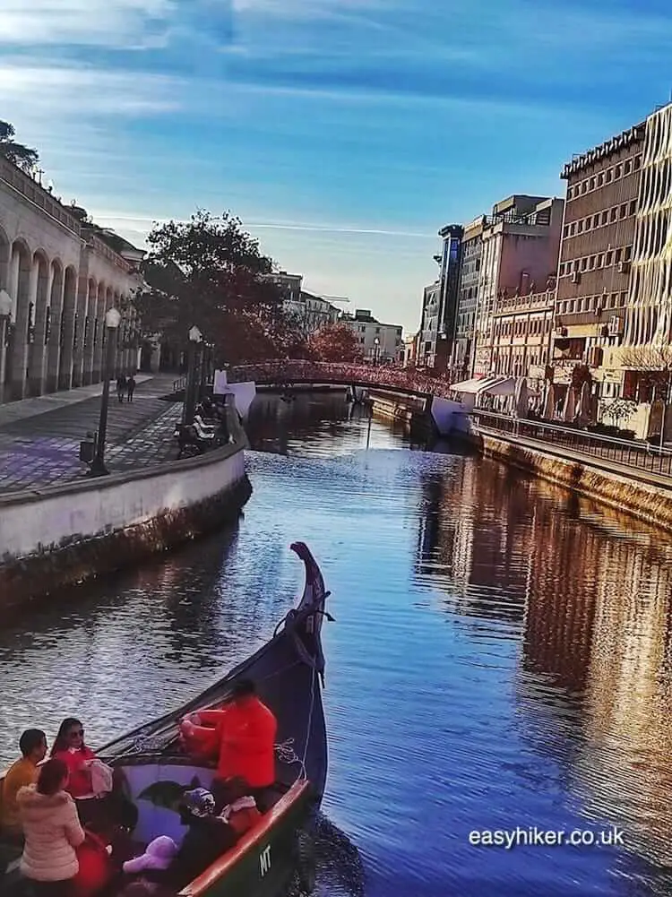
M269 806L234 847L181 891L172 892L184 897L272 897L282 893L297 872L302 886L310 890L310 828L327 779L321 630L325 617L332 618L325 610L329 593L310 549L302 542L291 547L305 565L305 587L299 605L278 623L273 638L192 701L97 752L113 768L137 811L132 833L137 856L162 835L180 843L186 832L179 816L181 798L191 789L209 788L216 773L214 763L199 765L184 752L180 720L221 706L237 682L249 679L273 710L277 736ZM30 893L19 870L21 849L2 842L0 849L4 867L0 893L12 897ZM119 874L104 888L104 897L116 897L128 882L127 876Z

